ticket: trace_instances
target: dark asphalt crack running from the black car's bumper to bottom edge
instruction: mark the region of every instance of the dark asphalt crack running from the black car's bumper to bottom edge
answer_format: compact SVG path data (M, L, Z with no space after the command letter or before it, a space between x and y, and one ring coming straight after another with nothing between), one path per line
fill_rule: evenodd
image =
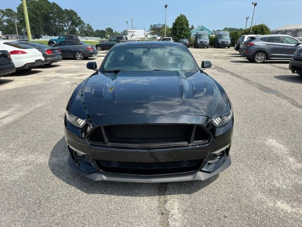
M168 198L166 196L167 190L167 183L158 184L158 209L161 214L161 226L163 227L167 227L169 225L169 211L166 208L168 202Z

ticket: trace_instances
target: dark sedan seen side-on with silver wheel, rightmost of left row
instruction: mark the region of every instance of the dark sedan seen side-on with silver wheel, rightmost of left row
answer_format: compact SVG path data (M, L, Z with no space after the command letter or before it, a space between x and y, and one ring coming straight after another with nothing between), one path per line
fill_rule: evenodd
M98 50L94 45L89 45L77 40L61 41L54 44L53 47L58 47L60 49L63 59L74 58L83 60L98 55Z

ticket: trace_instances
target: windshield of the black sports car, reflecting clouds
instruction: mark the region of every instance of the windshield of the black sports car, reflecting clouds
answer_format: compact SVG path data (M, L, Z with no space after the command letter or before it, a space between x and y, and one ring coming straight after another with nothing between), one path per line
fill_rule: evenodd
M186 48L175 46L127 46L115 48L108 53L101 71L113 70L165 70L195 73L198 71L198 67Z

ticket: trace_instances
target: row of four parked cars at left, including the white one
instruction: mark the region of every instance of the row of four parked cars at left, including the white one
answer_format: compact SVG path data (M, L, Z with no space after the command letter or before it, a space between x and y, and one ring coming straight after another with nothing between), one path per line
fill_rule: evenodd
M62 59L83 60L98 54L94 45L79 40L59 41L50 46L27 40L1 40L0 50L0 76L51 65Z

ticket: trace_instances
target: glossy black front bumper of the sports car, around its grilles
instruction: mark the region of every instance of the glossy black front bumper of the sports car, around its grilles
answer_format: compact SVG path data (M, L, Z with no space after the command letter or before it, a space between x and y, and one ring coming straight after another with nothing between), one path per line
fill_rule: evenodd
M182 116L184 122L188 124L205 125L206 117L202 116ZM146 123L158 123L158 124L175 124L179 123L180 116L165 116L155 117L148 119L148 122L139 122L140 119L116 118L114 116L97 117L94 119L93 125L100 126L104 124L120 124L119 121L124 124L132 124L135 121L136 124ZM127 122L124 122L127 121ZM231 164L231 157L229 150L232 142L233 135L233 121L228 131L223 134L214 137L211 136L209 142L203 145L186 146L186 147L172 147L172 148L160 148L160 149L132 149L132 148L119 148L110 146L95 146L91 145L88 140L89 132L87 135L79 132L80 130L70 125L65 120L65 140L70 152L68 160L69 165L82 175L93 179L95 181L126 181L126 182L169 182L169 181L189 181L189 180L205 180L217 173L220 173ZM218 161L211 162L213 152L222 151L223 156ZM77 155L81 154L85 156L83 159L78 159ZM127 162L132 165L140 163L143 165L154 165L158 163L168 162L190 162L191 160L197 160L197 164L194 169L181 168L181 171L168 172L165 169L164 172L149 172L142 174L140 169L136 169L135 173L116 172L113 168L107 168L100 165L100 162ZM178 166L179 167L179 166ZM152 169L154 170L154 169ZM164 173L164 174L163 174Z

